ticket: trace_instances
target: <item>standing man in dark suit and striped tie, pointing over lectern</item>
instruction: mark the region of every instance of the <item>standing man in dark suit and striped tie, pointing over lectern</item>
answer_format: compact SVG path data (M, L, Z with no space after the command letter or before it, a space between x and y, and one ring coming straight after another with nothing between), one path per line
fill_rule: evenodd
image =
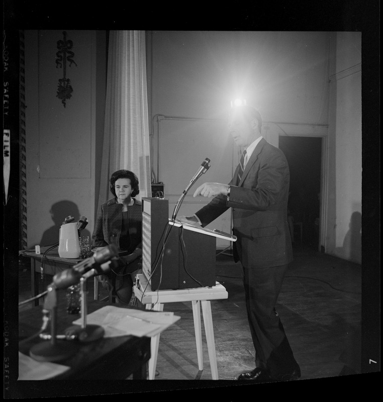
M275 304L293 260L287 222L290 172L284 154L261 136L262 119L248 106L232 109L229 130L245 153L229 184L204 183L194 196L214 197L181 222L205 227L232 208L234 260L243 267L246 310L256 368L239 380L271 382L301 376Z

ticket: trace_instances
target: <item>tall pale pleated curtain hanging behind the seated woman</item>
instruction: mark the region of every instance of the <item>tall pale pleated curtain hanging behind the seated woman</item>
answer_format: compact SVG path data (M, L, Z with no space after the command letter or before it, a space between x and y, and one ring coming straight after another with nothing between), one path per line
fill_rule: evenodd
M99 207L120 169L137 175L136 198L151 196L144 31L110 31Z

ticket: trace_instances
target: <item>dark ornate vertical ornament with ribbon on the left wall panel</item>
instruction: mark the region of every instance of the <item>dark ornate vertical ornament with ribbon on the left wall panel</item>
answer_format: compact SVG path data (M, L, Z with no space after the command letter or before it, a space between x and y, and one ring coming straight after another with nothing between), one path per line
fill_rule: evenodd
M57 97L61 99L64 108L66 106L65 102L66 99L70 99L72 96L73 88L70 85L70 79L66 77L66 61L69 61L69 67L72 63L75 64L77 67L76 62L72 59L74 53L71 51L73 47L73 42L71 40L66 40L66 32L63 31L64 35L63 40L57 41L57 49L58 52L56 53L56 68L62 67L64 76L58 80L58 89L57 89Z

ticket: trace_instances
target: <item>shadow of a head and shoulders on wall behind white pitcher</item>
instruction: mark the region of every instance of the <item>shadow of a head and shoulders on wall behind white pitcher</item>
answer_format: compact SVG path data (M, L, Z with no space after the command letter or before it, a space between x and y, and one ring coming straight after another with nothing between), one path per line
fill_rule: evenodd
M72 222L78 222L80 217L77 205L68 200L59 201L58 203L53 204L49 213L51 214L54 225L43 233L40 240L41 247L58 243L60 227L66 217L71 215L74 218ZM89 236L90 238L90 232L85 228L82 230L81 236Z

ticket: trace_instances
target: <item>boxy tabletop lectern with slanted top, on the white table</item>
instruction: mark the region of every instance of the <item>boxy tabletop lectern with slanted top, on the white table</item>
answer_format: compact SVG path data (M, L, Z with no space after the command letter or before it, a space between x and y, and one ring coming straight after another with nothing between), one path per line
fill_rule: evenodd
M168 218L168 200L142 198L142 271L152 290L216 284L216 238L236 237Z

